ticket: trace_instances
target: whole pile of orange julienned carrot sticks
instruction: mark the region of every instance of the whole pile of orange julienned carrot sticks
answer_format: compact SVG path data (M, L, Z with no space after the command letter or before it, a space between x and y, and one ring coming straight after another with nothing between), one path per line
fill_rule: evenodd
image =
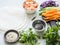
M51 21L51 20L60 20L60 11L57 9L52 9L50 11L46 11L42 13L42 16L44 16L46 21Z

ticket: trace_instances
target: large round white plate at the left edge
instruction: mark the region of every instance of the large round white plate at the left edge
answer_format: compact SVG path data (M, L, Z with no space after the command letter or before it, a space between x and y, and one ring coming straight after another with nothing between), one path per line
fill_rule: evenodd
M24 9L17 7L0 8L0 29L19 29L27 21Z

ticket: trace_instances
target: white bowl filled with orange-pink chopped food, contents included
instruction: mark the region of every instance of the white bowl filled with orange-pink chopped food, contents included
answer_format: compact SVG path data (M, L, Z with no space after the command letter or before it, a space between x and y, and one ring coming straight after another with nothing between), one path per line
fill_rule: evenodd
M34 0L26 0L23 3L23 8L25 9L27 14L34 14L36 12L37 7L38 4Z

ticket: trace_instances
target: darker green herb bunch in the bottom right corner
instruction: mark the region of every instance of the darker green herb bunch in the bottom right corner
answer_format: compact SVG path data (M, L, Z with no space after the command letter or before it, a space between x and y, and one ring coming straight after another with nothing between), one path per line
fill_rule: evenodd
M58 28L51 27L48 28L43 38L46 39L46 45L56 45L59 39Z

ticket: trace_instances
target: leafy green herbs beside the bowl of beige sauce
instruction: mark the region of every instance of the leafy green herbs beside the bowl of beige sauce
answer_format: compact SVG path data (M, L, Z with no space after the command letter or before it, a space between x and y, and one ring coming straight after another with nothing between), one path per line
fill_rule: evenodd
M37 45L38 36L33 33L32 28L28 31L20 32L19 42L24 43L25 45Z

